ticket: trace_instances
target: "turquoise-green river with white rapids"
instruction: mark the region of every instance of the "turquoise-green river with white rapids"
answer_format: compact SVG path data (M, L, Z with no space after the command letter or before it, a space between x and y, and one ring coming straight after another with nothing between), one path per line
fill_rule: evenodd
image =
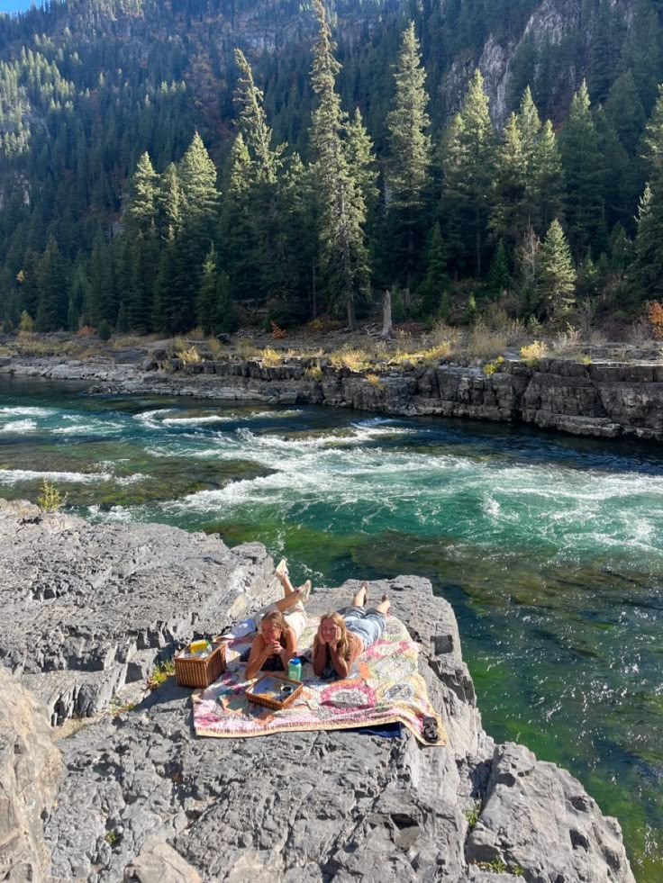
M486 730L567 766L663 867L663 451L465 421L87 397L0 378L0 495L258 539L296 579L418 573Z

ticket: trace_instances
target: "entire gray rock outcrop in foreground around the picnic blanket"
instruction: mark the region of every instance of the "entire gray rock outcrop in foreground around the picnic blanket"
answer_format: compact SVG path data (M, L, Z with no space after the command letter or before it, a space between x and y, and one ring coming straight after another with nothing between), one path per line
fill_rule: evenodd
M0 547L0 878L50 864L51 880L142 883L633 883L619 824L577 780L484 732L456 619L428 581L370 593L388 592L420 644L447 747L407 732L198 739L189 690L131 681L274 598L263 546L4 504ZM312 612L354 585L316 589ZM50 731L72 712L90 717Z

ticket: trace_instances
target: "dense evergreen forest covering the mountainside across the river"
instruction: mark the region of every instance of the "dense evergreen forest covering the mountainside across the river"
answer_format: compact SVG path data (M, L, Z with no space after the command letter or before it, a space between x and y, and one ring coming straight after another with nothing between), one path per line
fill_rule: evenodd
M663 298L663 2L542 6L0 15L5 332L353 327L388 289L619 333Z

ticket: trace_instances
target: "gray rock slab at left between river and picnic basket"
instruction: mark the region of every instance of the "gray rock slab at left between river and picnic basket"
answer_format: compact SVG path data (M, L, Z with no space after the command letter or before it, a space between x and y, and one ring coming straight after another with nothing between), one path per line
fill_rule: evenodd
M150 655L153 665L277 597L273 572L258 543L231 550L219 536L101 527L0 500L0 662L56 721L93 714Z

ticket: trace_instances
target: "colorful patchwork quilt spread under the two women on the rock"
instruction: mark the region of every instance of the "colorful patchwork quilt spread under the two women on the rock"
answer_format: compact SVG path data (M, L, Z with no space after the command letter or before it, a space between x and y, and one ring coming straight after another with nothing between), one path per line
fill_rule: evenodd
M309 617L299 642L299 652L313 645L319 619ZM224 674L207 689L193 696L194 727L197 735L237 738L282 733L286 730L340 730L360 726L401 723L423 744L446 745L440 717L428 698L419 674L417 645L404 624L387 617L386 629L375 644L354 662L346 680L320 680L306 662L302 671L304 689L286 708L274 711L246 698L251 681L244 679L244 663L252 635L234 641ZM242 651L244 651L242 653ZM429 743L423 735L423 718L437 722L438 741Z

